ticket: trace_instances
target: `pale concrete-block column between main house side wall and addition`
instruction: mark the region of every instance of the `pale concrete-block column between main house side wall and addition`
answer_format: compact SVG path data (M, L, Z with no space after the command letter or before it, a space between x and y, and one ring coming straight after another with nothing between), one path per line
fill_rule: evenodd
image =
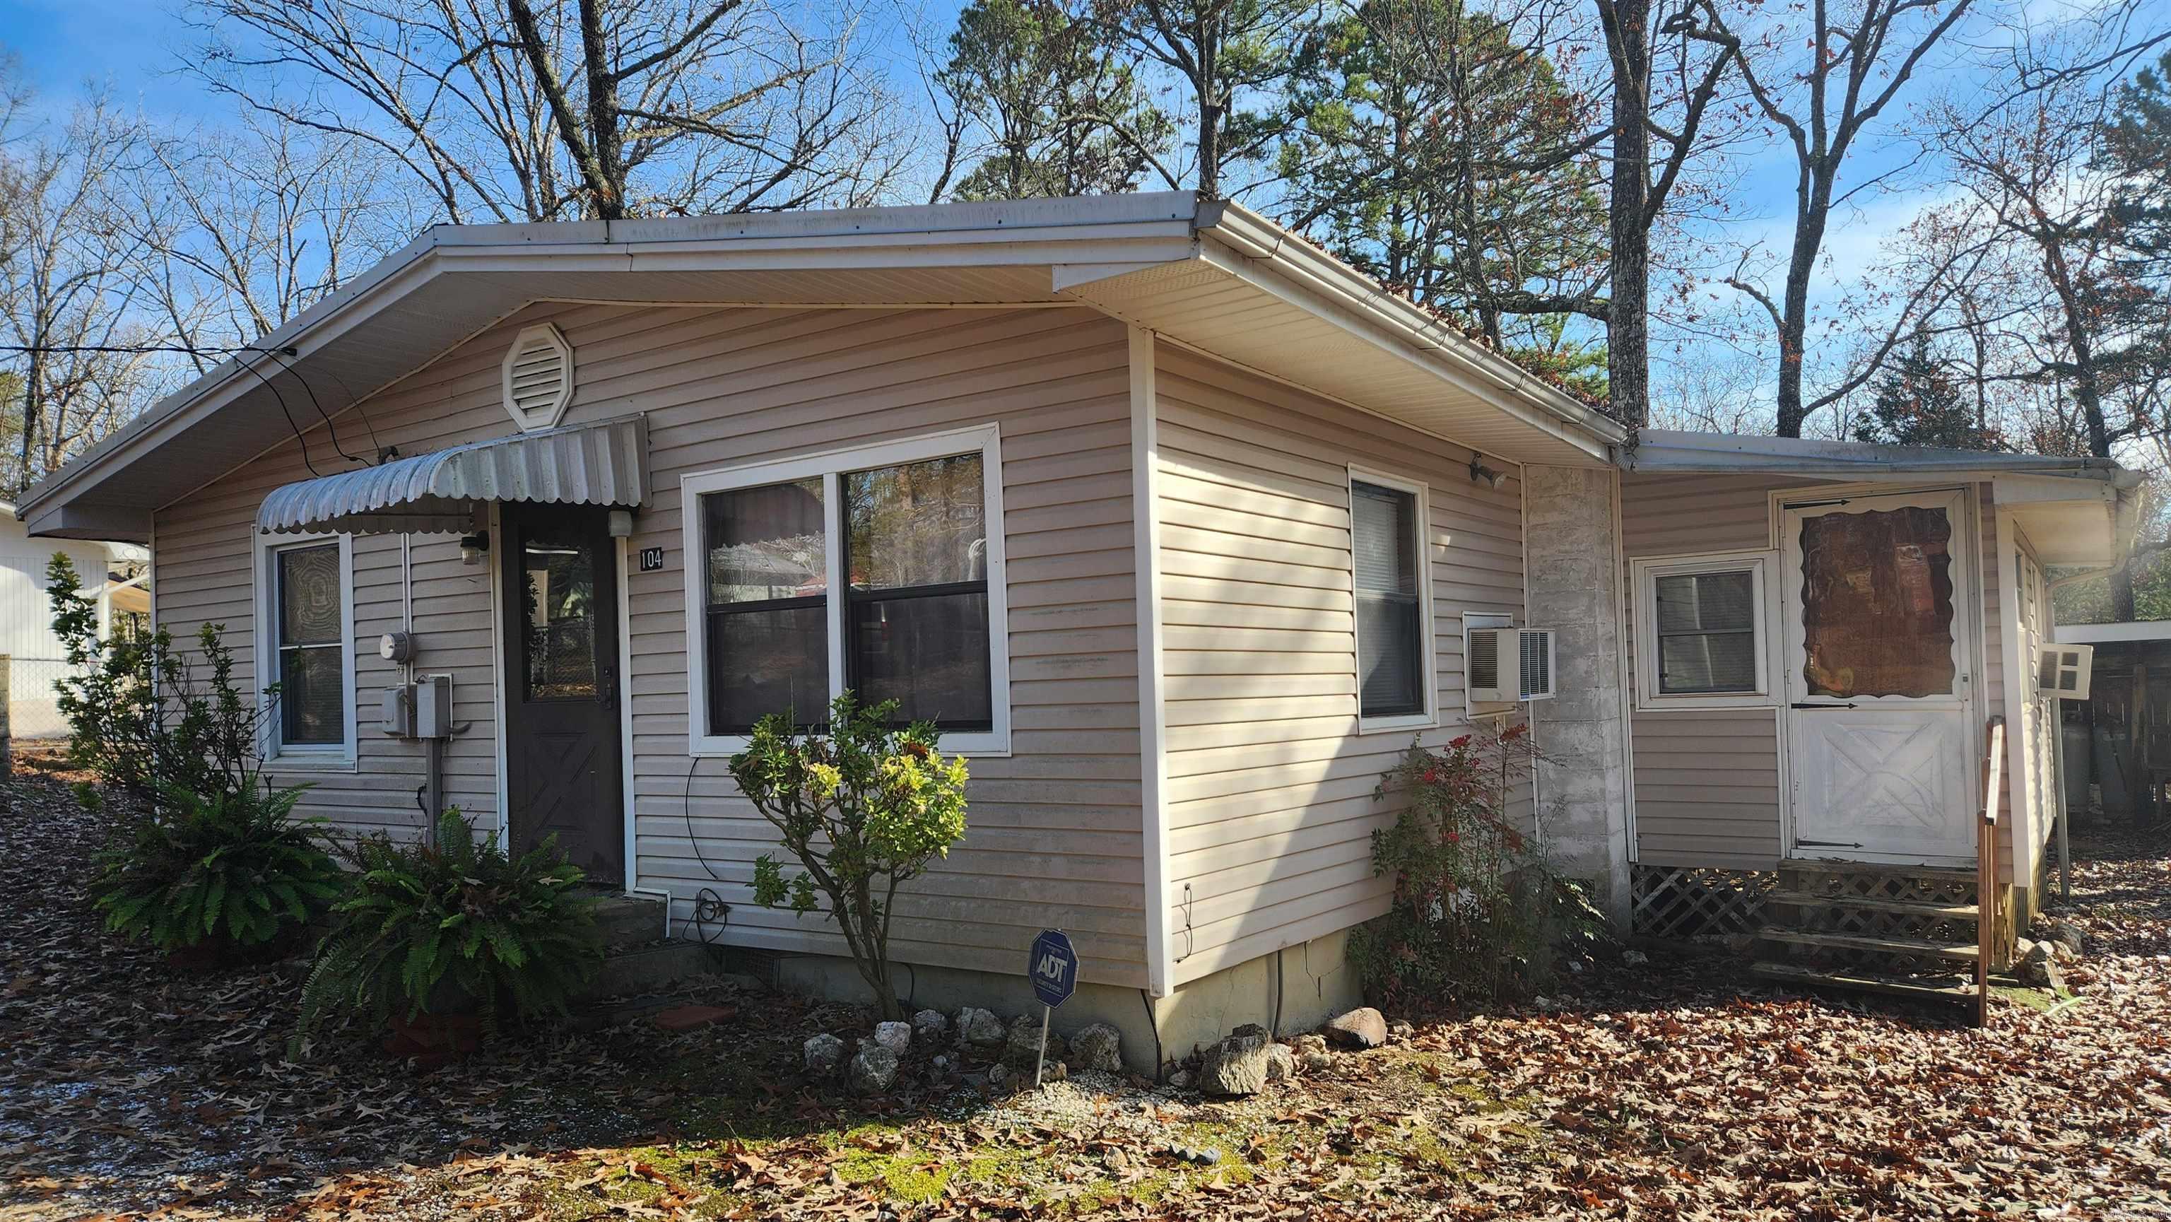
M1554 632L1554 699L1531 703L1537 825L1554 866L1628 927L1628 749L1613 471L1524 467L1531 627Z

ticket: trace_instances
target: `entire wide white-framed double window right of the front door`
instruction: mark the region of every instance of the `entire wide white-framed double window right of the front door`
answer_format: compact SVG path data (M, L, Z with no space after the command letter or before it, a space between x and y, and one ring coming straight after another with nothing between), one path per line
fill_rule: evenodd
M688 475L697 753L834 695L894 699L951 751L1007 749L994 430Z

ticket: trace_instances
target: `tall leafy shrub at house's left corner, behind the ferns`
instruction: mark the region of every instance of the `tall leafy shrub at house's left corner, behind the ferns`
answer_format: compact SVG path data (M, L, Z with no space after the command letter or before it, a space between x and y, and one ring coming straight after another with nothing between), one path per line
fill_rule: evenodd
M278 684L263 701L243 699L226 625L200 627L193 651L176 649L163 627L100 638L98 603L59 551L46 564L46 601L69 662L54 688L76 766L156 805L172 794L241 797L263 784L261 729Z

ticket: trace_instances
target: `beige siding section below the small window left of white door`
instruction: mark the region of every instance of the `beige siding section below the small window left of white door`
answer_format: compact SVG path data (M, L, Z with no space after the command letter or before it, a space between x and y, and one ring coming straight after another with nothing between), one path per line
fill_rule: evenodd
M1778 727L1767 708L1639 712L1637 862L1769 870L1778 840Z

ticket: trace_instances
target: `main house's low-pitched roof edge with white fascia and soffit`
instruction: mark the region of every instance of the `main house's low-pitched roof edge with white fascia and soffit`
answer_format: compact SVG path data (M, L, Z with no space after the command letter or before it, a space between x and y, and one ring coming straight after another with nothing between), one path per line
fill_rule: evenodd
M1211 300L1201 297L1201 289ZM1611 462L1617 423L1235 204L1190 191L436 226L37 484L33 534L150 536L154 510L337 419L532 302L1077 304L1511 462Z

